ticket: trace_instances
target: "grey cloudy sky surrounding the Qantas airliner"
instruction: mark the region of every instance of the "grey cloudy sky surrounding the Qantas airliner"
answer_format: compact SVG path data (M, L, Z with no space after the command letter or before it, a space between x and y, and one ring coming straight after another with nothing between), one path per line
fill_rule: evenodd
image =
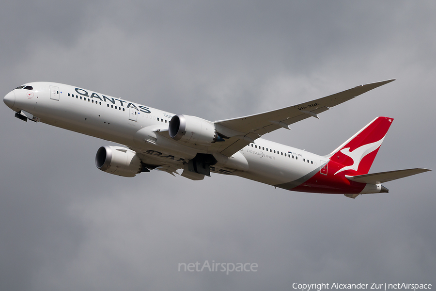
M2 1L2 96L55 81L219 120L398 79L265 136L327 154L395 121L371 172L434 168L433 1ZM434 172L355 200L236 177L121 178L110 142L0 106L1 290L291 290L436 284ZM178 272L178 263L257 272Z

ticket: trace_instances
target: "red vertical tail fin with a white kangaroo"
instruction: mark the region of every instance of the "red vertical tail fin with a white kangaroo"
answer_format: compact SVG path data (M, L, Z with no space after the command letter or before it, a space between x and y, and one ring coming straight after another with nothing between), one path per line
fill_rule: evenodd
M343 165L335 175L343 171L351 171L347 175L368 174L392 121L393 118L377 117L335 149L329 158Z

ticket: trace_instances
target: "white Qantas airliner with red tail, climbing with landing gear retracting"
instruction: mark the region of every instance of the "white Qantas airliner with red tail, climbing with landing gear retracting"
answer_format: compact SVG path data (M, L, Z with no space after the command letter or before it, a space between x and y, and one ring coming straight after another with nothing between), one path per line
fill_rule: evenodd
M394 80L215 122L54 82L26 83L3 101L23 121L43 122L124 145L97 150L97 168L113 175L135 177L157 169L175 176L181 169L181 176L192 180L219 173L291 191L356 198L387 193L382 183L431 171L414 168L368 174L393 118L376 117L326 156L261 136L291 129L293 123L306 118L319 118L318 114Z

